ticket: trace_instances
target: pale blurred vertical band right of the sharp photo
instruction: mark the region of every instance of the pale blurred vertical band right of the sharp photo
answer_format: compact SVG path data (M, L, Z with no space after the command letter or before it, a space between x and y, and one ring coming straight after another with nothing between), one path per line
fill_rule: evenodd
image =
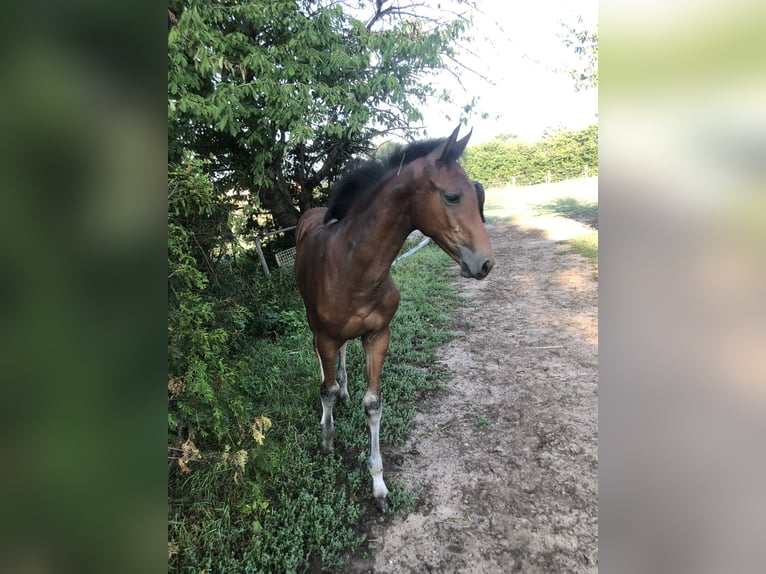
M755 572L763 4L600 4L600 566Z

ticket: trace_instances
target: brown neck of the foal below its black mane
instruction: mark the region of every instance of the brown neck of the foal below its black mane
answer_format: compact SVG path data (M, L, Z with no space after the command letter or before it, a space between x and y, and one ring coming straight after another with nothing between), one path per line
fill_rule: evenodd
M394 175L374 192L358 213L349 214L345 235L354 245L354 258L370 271L388 273L407 236L414 229L410 218L414 189L404 174Z

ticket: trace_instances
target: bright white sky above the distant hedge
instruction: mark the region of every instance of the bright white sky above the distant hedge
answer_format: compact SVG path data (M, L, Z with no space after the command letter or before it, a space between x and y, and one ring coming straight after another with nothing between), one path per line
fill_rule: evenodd
M470 143L501 134L532 142L546 129L579 130L597 123L597 90L577 92L566 73L555 71L578 61L573 49L564 45L561 22L574 26L580 15L589 29L595 29L597 0L480 0L478 4L483 13L475 17L472 28L475 40L469 47L474 54L465 54L461 61L488 79L463 71L462 87L450 74L436 80L452 90L460 106L478 96L478 113L468 120L468 128L473 128ZM460 111L455 105L430 104L423 111L430 137L449 135L458 124ZM482 119L481 112L488 117Z

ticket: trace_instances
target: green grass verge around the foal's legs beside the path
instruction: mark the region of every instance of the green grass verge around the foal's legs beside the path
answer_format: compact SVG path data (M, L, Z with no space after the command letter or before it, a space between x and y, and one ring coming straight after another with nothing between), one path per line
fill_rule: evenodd
M449 312L457 295L449 279L456 273L433 245L392 271L402 300L383 365L383 445L407 438L419 393L439 388L445 376L434 356L453 336ZM282 287L295 289L289 275ZM322 456L320 371L302 304L277 314L281 331L254 339L228 383L253 417L268 417L272 426L261 445L247 441L250 429L231 430L232 451L249 445L244 471L210 456L190 462L189 474L169 473L169 571L299 572L309 564L340 565L364 541L360 519L376 511L366 468L361 344L349 342L351 400L336 406L336 451ZM391 475L386 481L392 510L412 508L416 494Z

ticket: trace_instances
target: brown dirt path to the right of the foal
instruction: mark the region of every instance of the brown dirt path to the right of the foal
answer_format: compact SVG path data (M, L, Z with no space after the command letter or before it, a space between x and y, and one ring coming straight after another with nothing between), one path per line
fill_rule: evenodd
M466 306L440 353L449 392L419 405L405 445L383 449L415 508L368 524L367 552L344 572L597 571L593 265L550 229L487 228L494 270L456 279Z

